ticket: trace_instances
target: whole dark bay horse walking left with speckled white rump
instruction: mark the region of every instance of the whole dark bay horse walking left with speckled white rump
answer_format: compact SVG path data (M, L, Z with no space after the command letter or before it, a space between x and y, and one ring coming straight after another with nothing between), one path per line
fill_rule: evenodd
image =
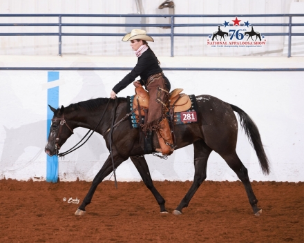
M249 142L256 150L256 155L260 162L263 173L269 173L269 162L265 155L265 150L260 139L260 133L256 124L251 118L237 106L228 104L216 97L209 95L196 96L198 104L198 123L184 124L175 126L176 146L182 148L189 144L194 146L194 179L193 184L180 204L173 211L175 215L182 213L182 208L187 207L194 193L200 184L206 179L207 160L211 151L216 151L238 175L243 182L249 203L255 215L260 215L261 209L258 208L258 200L254 195L249 182L247 168L236 154L236 140L238 137L238 122L234 111L240 117L240 124L249 137ZM108 103L109 102L109 103ZM106 106L108 104L108 106ZM83 127L93 129L98 124L101 114L104 113L102 122L97 126L96 132L102 135L106 141L106 146L110 150L111 133L106 131L111 126L113 117L113 107L115 101L99 98L82 101L77 104L70 104L64 108L51 108L54 112L53 124L50 128L48 143L45 152L50 155L57 155L60 147L72 135L73 129ZM129 112L126 98L117 98L117 108L115 122L120 121ZM160 213L168 213L164 203L164 198L153 186L149 167L144 158L144 150L140 144L140 133L136 128L131 128L129 121L122 122L120 126L113 129L112 134L112 155L115 168L120 166L126 159L131 158L133 164L140 173L144 184L153 193L156 201L160 205ZM158 148L157 136L153 136L153 149ZM155 150L154 150L155 152ZM138 156L142 155L142 156ZM111 154L104 162L104 165L93 179L91 188L88 191L82 204L77 209L75 215L84 215L86 206L91 203L93 194L102 180L113 172Z

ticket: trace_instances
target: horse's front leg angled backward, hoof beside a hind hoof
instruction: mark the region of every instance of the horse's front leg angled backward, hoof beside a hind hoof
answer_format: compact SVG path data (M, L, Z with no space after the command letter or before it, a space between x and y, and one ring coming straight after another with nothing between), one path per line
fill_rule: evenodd
M137 168L137 171L140 173L140 176L142 177L144 184L151 191L156 201L158 201L158 204L160 205L160 213L168 213L168 211L164 207L164 203L166 202L164 200L164 197L160 195L158 190L156 190L155 186L153 185L149 167L148 164L146 164L146 159L144 158L144 156L130 157L130 159Z

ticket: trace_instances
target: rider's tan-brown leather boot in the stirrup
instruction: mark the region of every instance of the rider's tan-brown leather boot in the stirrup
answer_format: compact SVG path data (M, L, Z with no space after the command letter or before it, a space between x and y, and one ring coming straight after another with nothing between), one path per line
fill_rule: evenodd
M162 119L160 122L160 128L156 130L158 135L158 142L160 143L160 148L156 148L155 150L161 152L162 155L171 155L173 153L173 139L171 135L171 130L169 126L169 122L166 118ZM170 145L169 145L170 144Z

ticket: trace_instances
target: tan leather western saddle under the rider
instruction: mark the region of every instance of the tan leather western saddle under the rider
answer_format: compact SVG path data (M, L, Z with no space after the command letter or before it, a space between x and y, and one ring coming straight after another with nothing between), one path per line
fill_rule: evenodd
M182 90L182 88L175 88L175 90L172 90L169 94L169 108L174 112L182 112L191 108L189 95L181 93ZM145 115L147 110L149 110L149 92L140 86L135 88L135 93L136 95L133 101L134 113L135 115Z

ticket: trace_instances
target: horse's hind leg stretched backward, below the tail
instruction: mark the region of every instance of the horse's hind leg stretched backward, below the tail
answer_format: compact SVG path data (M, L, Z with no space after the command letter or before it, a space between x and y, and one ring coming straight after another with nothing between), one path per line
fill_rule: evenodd
M229 167L236 173L236 175L238 175L238 178L243 182L243 185L245 186L245 191L249 199L249 203L252 207L252 210L254 211L254 215L260 216L260 214L262 213L262 209L258 208L257 206L258 200L256 199L254 191L251 188L247 168L238 158L236 151L234 151L234 153L221 156L223 159L225 159Z

